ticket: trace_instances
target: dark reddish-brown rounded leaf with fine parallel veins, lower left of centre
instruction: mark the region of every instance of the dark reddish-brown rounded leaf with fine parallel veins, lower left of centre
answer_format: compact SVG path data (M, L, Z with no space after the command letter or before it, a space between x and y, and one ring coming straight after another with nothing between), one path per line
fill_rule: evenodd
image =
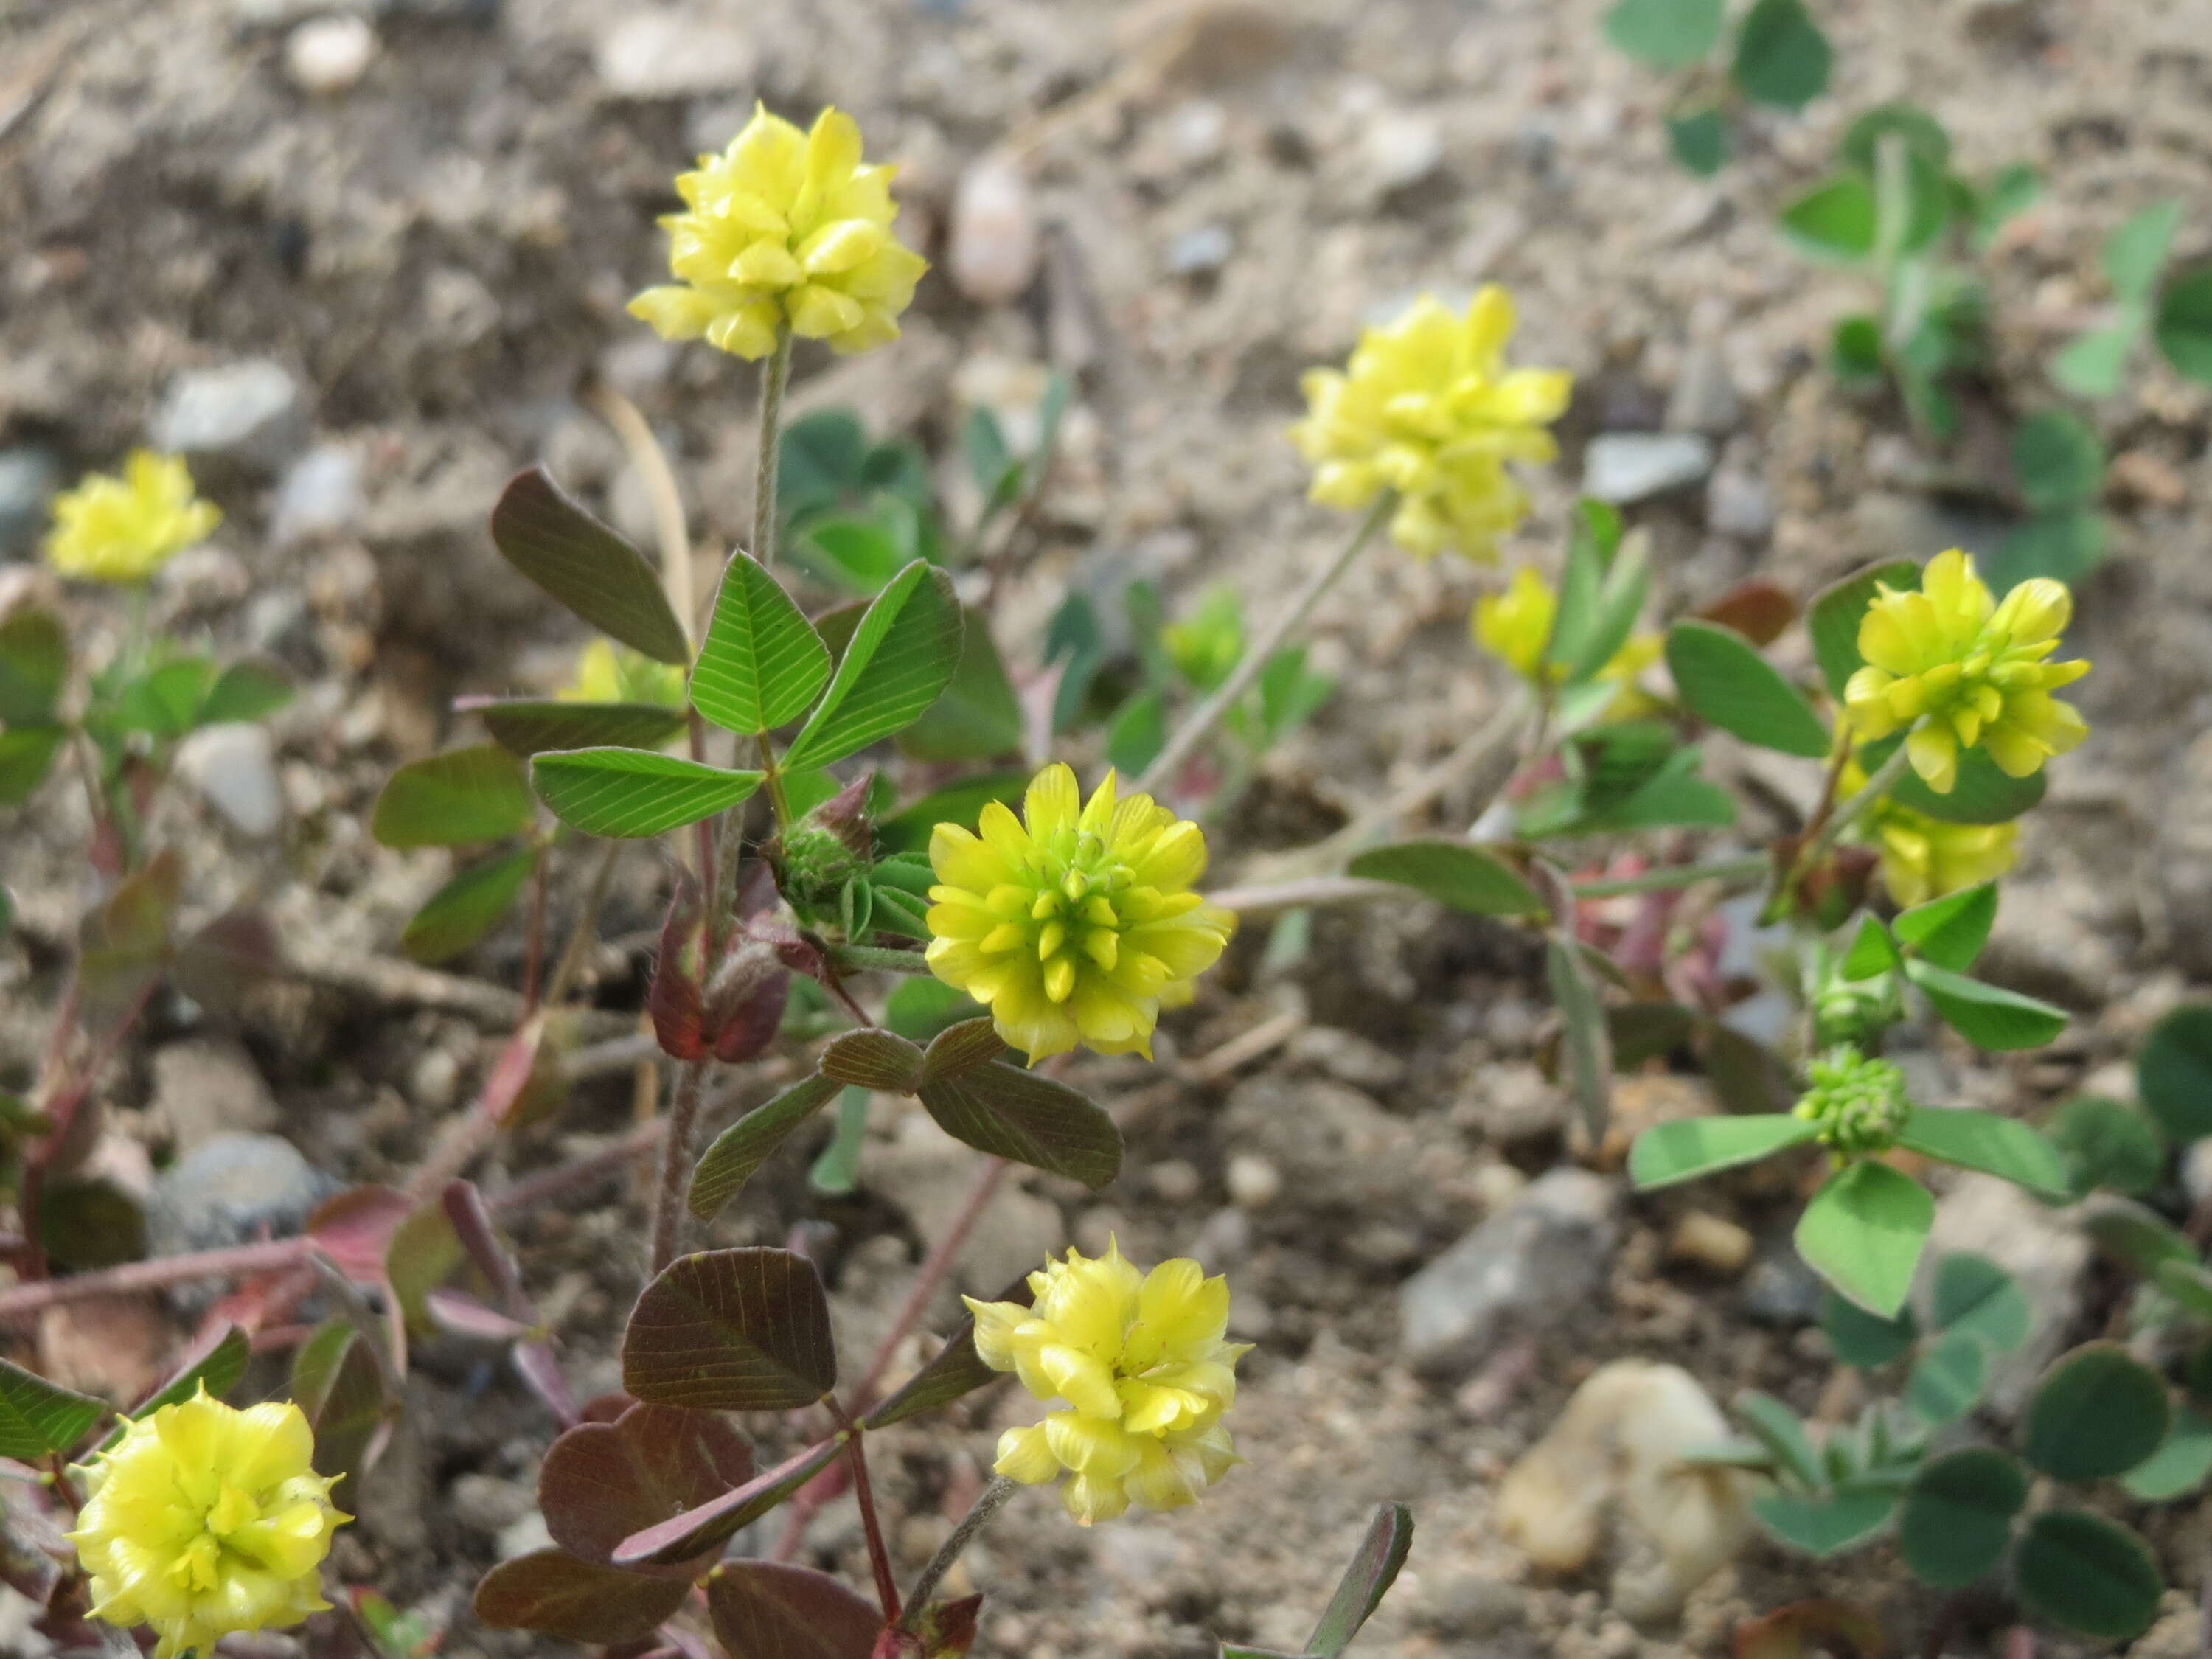
M790 1411L836 1385L830 1298L790 1250L701 1250L646 1285L622 1387L648 1405Z

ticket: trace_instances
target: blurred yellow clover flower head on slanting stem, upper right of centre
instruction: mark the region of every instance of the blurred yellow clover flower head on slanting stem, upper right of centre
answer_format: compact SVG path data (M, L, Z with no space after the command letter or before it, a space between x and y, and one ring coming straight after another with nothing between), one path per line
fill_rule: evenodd
M1391 540L1429 557L1447 546L1491 560L1528 515L1509 460L1551 460L1544 431L1566 409L1566 369L1509 369L1513 299L1484 285L1464 316L1422 294L1389 327L1360 336L1345 372L1305 374L1307 416L1292 440L1314 465L1307 495L1367 507L1398 491Z

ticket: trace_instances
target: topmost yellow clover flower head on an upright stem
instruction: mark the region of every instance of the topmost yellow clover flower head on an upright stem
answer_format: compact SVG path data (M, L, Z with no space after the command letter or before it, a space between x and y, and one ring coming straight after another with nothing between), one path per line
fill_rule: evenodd
M891 234L891 173L860 164L849 115L825 108L801 133L754 104L728 150L677 177L686 208L661 219L677 281L630 316L743 358L774 352L785 325L841 354L896 341L929 261Z

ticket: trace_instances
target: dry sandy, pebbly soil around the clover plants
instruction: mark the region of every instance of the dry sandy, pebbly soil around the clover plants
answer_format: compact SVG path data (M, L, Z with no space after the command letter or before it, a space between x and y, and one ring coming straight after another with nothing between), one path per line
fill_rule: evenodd
M967 405L1020 409L1042 367L1077 378L1068 458L1002 628L1013 655L1071 582L1279 593L1343 533L1303 504L1283 438L1301 367L1340 356L1363 319L1420 288L1464 294L1489 279L1520 296L1526 358L1579 376L1566 453L1520 551L1548 555L1588 438L1670 414L1710 431L1719 467L1632 509L1655 538L1655 613L1754 571L1809 593L1871 555L1986 540L1986 515L1920 487L1891 411L1858 409L1825 380L1825 327L1856 294L1783 250L1770 215L1818 173L1847 115L1880 97L1938 111L1971 170L2046 168L2048 199L1993 261L1986 403L2051 400L2039 363L2099 299L2112 223L2179 195L2179 252L2212 252L2212 4L1816 11L1836 38L1834 93L1803 119L1761 119L1747 155L1703 184L1666 161L1661 88L1601 44L1599 0L9 0L0 453L18 476L40 458L73 476L144 440L179 374L268 358L292 376L292 405L201 467L228 520L164 599L175 626L274 650L305 684L276 726L290 827L254 843L190 803L177 827L190 830L195 907L259 891L303 953L389 956L447 867L367 841L380 779L462 730L453 695L551 686L575 644L487 544L504 476L544 458L650 535L639 480L582 403L597 376L668 445L701 580L745 522L750 374L661 347L622 301L657 270L670 173L721 144L757 95L799 115L854 111L872 153L905 159L909 223L940 261L962 173L1009 135L1026 146L1044 259L1018 299L984 305L933 279L896 347L836 365L803 354L799 367L805 405L852 403L911 431L947 476ZM294 29L354 13L374 60L354 84L305 88L288 64ZM1931 1046L1927 1066L1960 1104L2057 1099L2212 975L2212 743L2197 741L2212 695L2208 398L2146 363L2095 420L2119 456L2112 557L2077 628L2101 668L2081 688L2097 730L2055 768L1991 958L1995 975L2081 1020L2011 1064ZM296 482L310 451L334 456L321 495ZM1975 462L1986 456L1969 445ZM347 476L354 491L330 482ZM9 557L27 555L20 520L0 518L0 535ZM11 593L38 580L0 564ZM1334 827L1482 719L1500 690L1464 635L1482 582L1464 564L1376 557L1329 599L1318 639L1340 692L1223 825L1225 878ZM88 637L113 626L93 604L75 611ZM1717 765L1756 770L1719 750ZM0 947L0 1060L18 1068L38 1053L82 898L82 823L58 796L0 825L20 907ZM1473 803L1444 805L1438 823L1464 823ZM646 854L626 865L611 936L653 925L659 878ZM500 938L462 967L511 984L518 949ZM602 962L608 1006L635 1006L637 960ZM1296 1646L1380 1498L1411 1502L1420 1537L1363 1639L1376 1659L1712 1652L1736 1617L1812 1593L1860 1595L1916 1639L1927 1599L1900 1588L1882 1548L1816 1571L1752 1544L1683 1621L1637 1626L1610 1604L1604 1564L1548 1579L1500 1540L1498 1478L1599 1360L1679 1360L1723 1400L1759 1385L1807 1411L1854 1407L1787 1270L1792 1197L1756 1181L1624 1201L1604 1292L1533 1347L1500 1349L1509 1363L1405 1363L1396 1285L1522 1177L1573 1155L1564 1099L1533 1062L1546 1020L1533 967L1511 931L1431 907L1329 914L1287 971L1263 973L1248 947L1172 1024L1159 1071L1093 1066L1099 1095L1141 1097L1126 1177L1102 1197L1009 1192L962 1276L995 1285L1053 1243L1097 1248L1108 1232L1139 1259L1197 1250L1225 1267L1256 1343L1237 1407L1252 1467L1194 1511L1095 1533L1024 1500L973 1557L993 1593L980 1652ZM1270 1020L1283 1040L1245 1064L1192 1064ZM465 1099L487 1035L453 1011L327 987L230 1020L161 1006L111 1091L113 1121L157 1152L210 1124L274 1128L334 1177L383 1179ZM228 1082L161 1099L157 1055L181 1044L219 1053ZM1694 1077L1632 1079L1624 1113L1679 1110L1701 1091ZM582 1091L482 1179L573 1155L628 1110L619 1079ZM781 1241L823 1223L847 1349L883 1325L964 1181L914 1128L883 1119L856 1199L810 1197L794 1159L717 1230ZM1252 1203L1265 1181L1232 1201L1237 1157L1272 1164L1270 1201ZM1593 1161L1613 1168L1617 1148ZM1692 1208L1747 1230L1750 1261L1670 1254ZM518 1225L533 1287L562 1310L580 1394L613 1378L639 1214L633 1194ZM2057 1318L2084 1318L2070 1287ZM425 1356L411 1407L341 1571L449 1617L451 1655L544 1650L480 1630L465 1601L500 1540L526 1535L544 1413L469 1347ZM878 1455L905 1553L927 1553L947 1491L1015 1409L978 1396L951 1429L907 1429ZM2159 1528L2194 1590L2201 1520L2174 1513ZM860 1568L849 1511L827 1511L814 1540L814 1559ZM2143 1652L2194 1639L2179 1613Z

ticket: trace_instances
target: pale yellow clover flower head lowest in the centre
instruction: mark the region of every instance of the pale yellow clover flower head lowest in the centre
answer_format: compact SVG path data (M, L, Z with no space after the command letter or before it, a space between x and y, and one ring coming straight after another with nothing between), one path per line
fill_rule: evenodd
M982 1363L1064 1405L1000 1436L998 1473L1042 1486L1066 1469L1060 1500L1088 1526L1130 1504L1181 1509L1243 1462L1221 1425L1250 1352L1223 1340L1228 1279L1190 1259L1139 1274L1108 1243L1046 1261L1029 1287L1033 1307L967 1298Z

